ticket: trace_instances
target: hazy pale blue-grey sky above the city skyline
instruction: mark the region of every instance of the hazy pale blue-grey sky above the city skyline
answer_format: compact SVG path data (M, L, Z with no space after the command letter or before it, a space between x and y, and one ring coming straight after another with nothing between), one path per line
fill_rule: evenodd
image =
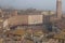
M65 10L65 0L63 1L63 10ZM55 10L56 0L0 0L0 5L3 8L15 9L41 9L41 10Z

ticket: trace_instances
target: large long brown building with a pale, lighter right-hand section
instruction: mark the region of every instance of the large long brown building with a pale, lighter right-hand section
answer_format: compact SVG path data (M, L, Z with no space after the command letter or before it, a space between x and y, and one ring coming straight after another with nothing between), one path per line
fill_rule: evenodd
M17 15L8 19L10 26L37 25L43 23L42 15Z

